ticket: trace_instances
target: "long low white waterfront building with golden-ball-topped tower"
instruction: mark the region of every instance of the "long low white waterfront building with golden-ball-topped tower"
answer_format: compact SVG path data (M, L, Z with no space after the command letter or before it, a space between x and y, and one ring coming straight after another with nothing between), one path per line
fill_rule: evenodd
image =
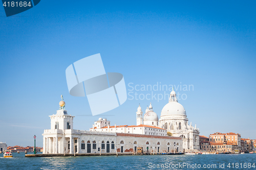
M42 134L44 154L123 153L137 148L149 153L183 152L181 137L167 136L166 129L156 126L111 126L110 121L99 118L89 131L74 130L75 116L65 110L64 101L59 105L57 113L50 115L51 129Z

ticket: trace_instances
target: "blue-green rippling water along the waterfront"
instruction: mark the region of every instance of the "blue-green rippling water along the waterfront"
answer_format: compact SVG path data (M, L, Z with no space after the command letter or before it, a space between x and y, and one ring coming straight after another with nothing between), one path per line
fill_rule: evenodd
M181 166L175 168L174 166L178 166L179 163L181 166L183 165L183 163L189 164L190 168L188 165L186 165L184 168L182 168ZM220 164L223 163L225 167L220 168ZM227 167L228 163L230 163L230 168ZM233 167L231 163L234 163ZM239 166L237 168L236 163L238 163L237 165ZM251 165L253 165L254 163L255 167L244 168L244 163L246 163L246 165L248 165L248 163L251 163ZM160 168L161 164L162 168ZM198 168L199 164L201 165L201 168ZM206 165L206 168L203 168L204 164ZM159 168L157 168L158 165ZM163 165L165 165L165 168L163 167ZM172 165L174 168L172 168ZM207 165L216 165L216 167L212 166L210 168L207 168ZM13 153L13 158L4 158L3 154L0 154L0 169L256 169L256 154L139 155L118 157L77 156L26 158L25 153Z

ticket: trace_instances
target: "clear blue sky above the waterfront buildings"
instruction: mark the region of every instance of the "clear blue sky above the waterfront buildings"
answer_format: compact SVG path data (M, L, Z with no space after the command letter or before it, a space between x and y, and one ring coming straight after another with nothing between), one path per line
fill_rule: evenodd
M130 91L129 83L178 87L179 103L200 135L234 132L255 139L255 5L42 0L10 17L1 7L0 141L27 146L36 135L42 147L41 134L50 129L49 115L59 109L61 94L78 130L89 130L99 117L112 125L135 125L138 105L144 113L150 102L160 118L167 98L128 95L120 107L92 116L86 97L69 94L66 68L97 53L106 72L123 74L127 93L170 93ZM186 85L190 90L183 89Z

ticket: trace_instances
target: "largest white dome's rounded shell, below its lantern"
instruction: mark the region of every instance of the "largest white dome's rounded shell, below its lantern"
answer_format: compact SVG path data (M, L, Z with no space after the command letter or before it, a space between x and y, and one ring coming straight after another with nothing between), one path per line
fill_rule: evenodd
M161 116L165 115L186 115L186 111L178 102L169 102L161 111Z

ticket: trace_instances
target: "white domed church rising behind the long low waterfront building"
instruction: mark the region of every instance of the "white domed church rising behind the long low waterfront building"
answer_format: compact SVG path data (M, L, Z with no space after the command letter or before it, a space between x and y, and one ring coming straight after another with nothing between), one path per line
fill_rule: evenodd
M137 113L137 126L150 125L166 129L172 133L172 136L182 137L183 149L186 152L199 150L199 128L197 125L193 127L190 123L188 125L188 118L184 107L178 103L175 91L170 92L169 102L163 107L161 111L161 118L158 119L157 114L153 111L150 104L145 110L142 118L141 107L138 107Z

